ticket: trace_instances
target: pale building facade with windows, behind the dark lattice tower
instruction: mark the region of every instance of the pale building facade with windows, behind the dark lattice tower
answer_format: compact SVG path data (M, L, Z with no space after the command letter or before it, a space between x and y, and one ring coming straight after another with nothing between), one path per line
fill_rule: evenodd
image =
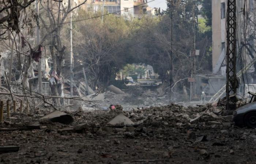
M239 0L237 2L237 54L246 56L248 63L248 49L241 45L246 39L255 47L255 6L256 0ZM247 7L244 4L247 4ZM245 13L245 14L244 14ZM227 0L212 0L212 70L213 74L226 74L226 14ZM246 17L247 16L247 17ZM246 27L246 28L245 28ZM243 54L242 54L243 53Z

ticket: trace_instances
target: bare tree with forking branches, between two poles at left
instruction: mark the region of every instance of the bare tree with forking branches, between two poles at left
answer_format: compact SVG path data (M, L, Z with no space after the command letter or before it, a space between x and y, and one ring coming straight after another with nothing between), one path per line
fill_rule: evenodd
M55 80L57 82L50 83L50 87L53 95L61 95L61 71L64 64L64 51L66 46L61 41L61 30L66 24L64 22L68 15L71 14L76 8L84 4L87 0L84 0L79 5L74 5L68 0L68 4L64 4L61 1L46 1L41 3L41 14L39 14L40 22L42 22L42 39L40 45L45 42L49 45L49 52L53 61L52 70L56 73ZM45 19L45 16L47 19ZM37 45L36 47L40 46ZM63 80L63 79L62 79ZM55 104L60 105L60 102L54 99Z

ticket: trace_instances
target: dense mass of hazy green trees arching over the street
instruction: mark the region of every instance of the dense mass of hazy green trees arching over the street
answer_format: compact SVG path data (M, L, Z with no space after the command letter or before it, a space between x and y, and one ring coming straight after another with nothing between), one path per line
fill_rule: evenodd
M86 68L91 83L94 83L91 86L108 85L111 77L121 69L124 75L145 75L145 68L133 63L153 66L162 81L169 81L170 71L173 81L189 77L189 51L193 45L193 22L189 20L192 19L193 3L189 0L176 0L172 5L170 0L167 2L164 15L157 17L142 15L140 19L130 20L106 15L103 23L101 17L74 23L74 58L75 63L80 63L74 66L74 71ZM195 12L199 14L197 8ZM98 15L101 13L81 10L74 19ZM200 50L200 56L197 67L198 70L210 69L211 39L208 34L211 30L205 19L199 19L198 23L196 48ZM197 35L198 31L200 35Z

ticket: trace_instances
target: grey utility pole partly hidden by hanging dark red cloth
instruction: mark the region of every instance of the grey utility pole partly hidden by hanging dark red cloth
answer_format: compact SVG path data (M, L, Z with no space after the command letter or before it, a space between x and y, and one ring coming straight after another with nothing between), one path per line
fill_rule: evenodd
M39 16L39 6L38 6L38 0L35 1L36 3L36 13L37 13L37 29L36 29L36 34L37 34L37 46L39 46L39 19L38 19L38 16ZM37 65L37 70L38 70L38 91L40 94L42 94L42 70L41 70L41 59L39 59L39 62L38 62L38 65Z

